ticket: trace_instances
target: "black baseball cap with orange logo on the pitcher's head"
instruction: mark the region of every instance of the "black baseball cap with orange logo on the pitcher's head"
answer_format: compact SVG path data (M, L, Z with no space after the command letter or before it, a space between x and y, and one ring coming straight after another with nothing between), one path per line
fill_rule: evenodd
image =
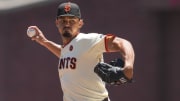
M76 16L81 18L80 8L76 3L66 2L58 6L57 17Z

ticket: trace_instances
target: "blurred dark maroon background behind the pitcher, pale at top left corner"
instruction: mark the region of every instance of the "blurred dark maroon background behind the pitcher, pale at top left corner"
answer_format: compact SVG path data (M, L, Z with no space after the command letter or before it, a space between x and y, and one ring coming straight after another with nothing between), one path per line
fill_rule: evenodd
M61 43L55 27L62 0L0 0L0 101L62 101L58 58L26 35L37 25ZM132 42L135 83L107 86L112 101L179 101L180 0L73 0L82 32ZM117 57L105 54L105 61ZM73 85L72 85L73 86Z

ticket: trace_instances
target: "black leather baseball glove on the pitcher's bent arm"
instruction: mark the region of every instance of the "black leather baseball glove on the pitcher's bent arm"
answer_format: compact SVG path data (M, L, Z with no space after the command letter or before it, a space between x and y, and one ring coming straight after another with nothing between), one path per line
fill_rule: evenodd
M124 83L131 83L123 73L124 61L121 59L116 59L111 61L109 64L100 62L95 68L94 72L107 84L110 85L120 85Z

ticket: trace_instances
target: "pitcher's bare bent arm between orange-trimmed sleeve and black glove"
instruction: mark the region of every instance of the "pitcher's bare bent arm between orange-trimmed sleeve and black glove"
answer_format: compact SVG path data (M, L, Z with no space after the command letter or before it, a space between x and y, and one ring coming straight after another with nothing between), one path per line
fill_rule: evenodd
M134 49L132 44L122 38L111 38L108 43L109 52L120 52L124 60L124 74L131 79L133 77Z

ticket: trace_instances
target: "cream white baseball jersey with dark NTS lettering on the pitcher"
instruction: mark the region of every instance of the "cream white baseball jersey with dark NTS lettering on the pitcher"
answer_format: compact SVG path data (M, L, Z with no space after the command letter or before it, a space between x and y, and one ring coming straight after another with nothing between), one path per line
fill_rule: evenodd
M105 83L94 73L103 61L105 35L79 33L61 50L59 77L64 101L102 101L108 97Z

